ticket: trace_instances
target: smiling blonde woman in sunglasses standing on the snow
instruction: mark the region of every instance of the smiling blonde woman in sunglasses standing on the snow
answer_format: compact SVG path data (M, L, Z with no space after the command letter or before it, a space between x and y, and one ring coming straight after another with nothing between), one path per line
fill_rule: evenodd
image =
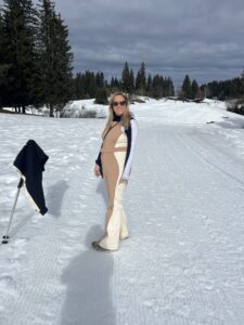
M123 196L131 171L138 134L126 94L113 94L108 108L103 143L94 167L94 174L102 176L105 181L108 197L105 235L92 243L97 250L117 250L119 239L129 237Z

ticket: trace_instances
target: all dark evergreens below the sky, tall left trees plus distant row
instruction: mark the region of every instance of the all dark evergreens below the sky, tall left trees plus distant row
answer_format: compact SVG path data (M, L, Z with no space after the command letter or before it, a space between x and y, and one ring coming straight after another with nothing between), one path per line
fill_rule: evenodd
M104 78L102 72L73 74L68 27L52 0L3 0L0 8L0 108L47 106L50 116L70 100L93 99L106 103L114 91L155 99L174 96L170 77L146 74L142 62L138 72L125 62L120 77ZM198 86L187 75L179 91L183 99L243 96L244 75L226 81Z

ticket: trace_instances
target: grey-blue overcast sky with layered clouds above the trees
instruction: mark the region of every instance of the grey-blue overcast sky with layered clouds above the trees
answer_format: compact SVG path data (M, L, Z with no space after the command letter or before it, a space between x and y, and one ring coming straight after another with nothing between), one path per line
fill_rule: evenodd
M69 27L75 72L184 75L200 83L240 76L244 66L244 0L56 0Z

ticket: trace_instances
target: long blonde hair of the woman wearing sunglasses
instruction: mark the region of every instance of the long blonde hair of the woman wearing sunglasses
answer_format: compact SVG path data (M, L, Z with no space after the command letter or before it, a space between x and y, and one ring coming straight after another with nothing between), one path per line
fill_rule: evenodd
M123 114L121 116L121 126L127 130L130 126L130 120L132 118L132 113L130 112L129 109L129 99L127 96L126 93L124 92L115 92L111 95L110 98L110 106L108 106L108 118L107 118L107 121L106 121L106 126L103 130L103 133L102 133L102 138L105 135L105 133L112 128L112 122L113 122L113 118L114 118L114 110L113 110L113 102L114 102L114 99L115 96L117 95L121 95L124 98L124 100L126 101L126 109L125 109L125 113Z

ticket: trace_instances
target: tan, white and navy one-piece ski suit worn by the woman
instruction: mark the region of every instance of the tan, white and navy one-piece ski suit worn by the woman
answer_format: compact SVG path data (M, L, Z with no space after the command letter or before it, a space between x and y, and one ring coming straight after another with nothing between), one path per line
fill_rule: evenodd
M99 242L105 249L118 249L119 239L129 236L123 197L131 172L137 133L134 119L130 120L129 128L125 130L120 118L115 117L95 160L100 166L108 197L106 231Z

